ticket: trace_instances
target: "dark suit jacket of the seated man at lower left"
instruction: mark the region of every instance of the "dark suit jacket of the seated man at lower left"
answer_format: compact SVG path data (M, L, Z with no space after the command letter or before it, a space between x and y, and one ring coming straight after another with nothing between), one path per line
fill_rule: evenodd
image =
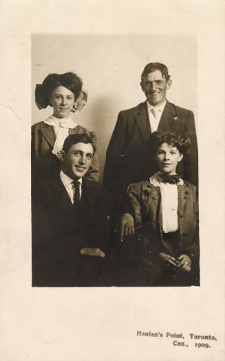
M101 286L107 258L81 248L109 249L109 198L100 183L83 178L81 205L74 207L59 176L32 189L32 286Z

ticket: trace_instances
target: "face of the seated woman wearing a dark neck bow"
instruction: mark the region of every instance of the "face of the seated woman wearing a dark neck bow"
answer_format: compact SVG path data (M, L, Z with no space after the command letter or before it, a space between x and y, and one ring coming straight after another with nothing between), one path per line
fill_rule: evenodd
M156 152L158 171L165 174L175 174L175 169L182 158L183 155L180 154L177 147L162 143Z

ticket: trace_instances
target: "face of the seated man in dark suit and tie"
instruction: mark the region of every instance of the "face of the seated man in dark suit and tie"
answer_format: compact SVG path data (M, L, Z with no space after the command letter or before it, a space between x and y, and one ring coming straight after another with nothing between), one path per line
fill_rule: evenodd
M92 144L76 143L72 145L68 152L61 151L61 168L67 176L76 180L82 178L87 173L94 149Z

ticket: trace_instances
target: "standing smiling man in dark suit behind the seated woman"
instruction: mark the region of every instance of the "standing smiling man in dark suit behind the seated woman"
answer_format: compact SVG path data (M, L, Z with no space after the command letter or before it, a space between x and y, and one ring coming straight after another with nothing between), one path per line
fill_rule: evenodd
M178 172L197 185L197 137L194 115L191 110L167 101L171 87L167 66L149 63L145 66L140 86L147 98L129 110L118 114L116 127L106 154L103 184L116 202L125 194L130 183L136 183L156 172L155 163L149 162L147 138L156 130L186 134L191 139L191 149Z

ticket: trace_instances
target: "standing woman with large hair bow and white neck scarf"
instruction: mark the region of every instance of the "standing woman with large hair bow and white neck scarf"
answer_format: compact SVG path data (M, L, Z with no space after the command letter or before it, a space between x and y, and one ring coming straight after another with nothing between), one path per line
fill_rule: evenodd
M60 170L58 157L69 134L87 134L96 143L96 134L74 123L71 117L87 102L87 91L82 89L82 85L81 78L73 72L49 74L42 84L36 85L37 107L41 110L49 105L53 114L32 125L32 182L46 179ZM91 180L99 178L97 152L85 177Z

